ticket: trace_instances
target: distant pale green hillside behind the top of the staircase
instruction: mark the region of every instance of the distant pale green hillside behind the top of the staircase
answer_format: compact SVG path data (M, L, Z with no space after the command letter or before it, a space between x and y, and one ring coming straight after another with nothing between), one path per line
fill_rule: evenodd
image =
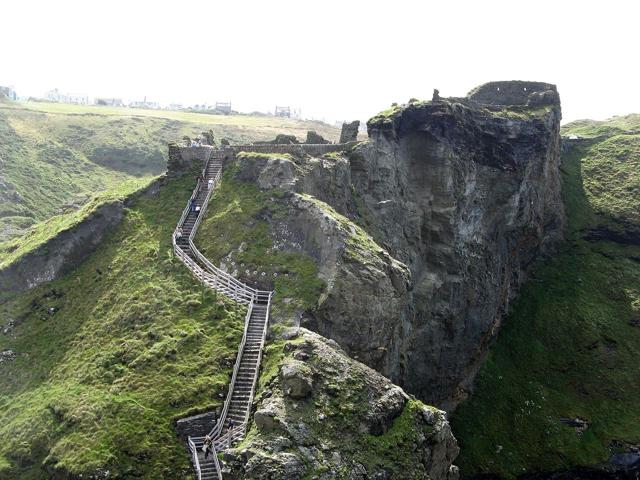
M0 242L100 191L166 167L166 144L213 130L232 143L337 129L290 119L56 103L0 102Z

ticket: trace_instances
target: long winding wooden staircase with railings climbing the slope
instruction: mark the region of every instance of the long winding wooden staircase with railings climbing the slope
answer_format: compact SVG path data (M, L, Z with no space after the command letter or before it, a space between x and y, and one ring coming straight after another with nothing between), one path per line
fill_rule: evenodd
M241 440L247 431L273 294L270 291L251 288L220 270L202 255L193 243L211 193L220 182L221 175L222 155L212 147L205 160L202 177L198 179L173 236L174 253L196 278L232 300L247 305L244 334L238 348L227 398L218 422L208 434L213 439L213 452L205 459L202 451L204 437L189 437L188 440L198 480L222 480L222 470L216 452L230 448Z

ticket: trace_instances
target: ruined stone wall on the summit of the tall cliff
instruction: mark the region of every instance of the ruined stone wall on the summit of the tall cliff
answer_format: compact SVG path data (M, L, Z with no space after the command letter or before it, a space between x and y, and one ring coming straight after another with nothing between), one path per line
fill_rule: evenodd
M555 85L521 80L485 83L471 90L467 94L467 98L487 105L530 105L532 103L551 105L560 103Z

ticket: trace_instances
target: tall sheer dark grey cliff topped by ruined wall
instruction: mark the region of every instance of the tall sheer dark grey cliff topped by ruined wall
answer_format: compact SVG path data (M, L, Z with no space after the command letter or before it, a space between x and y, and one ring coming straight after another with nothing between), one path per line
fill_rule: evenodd
M411 271L400 335L382 342L395 358L382 371L444 407L464 398L530 265L564 228L558 96L524 85L526 96L506 100L518 105L445 99L383 112L349 157L360 215ZM495 98L510 86L480 90ZM322 334L359 350L334 334L347 319L315 318Z

